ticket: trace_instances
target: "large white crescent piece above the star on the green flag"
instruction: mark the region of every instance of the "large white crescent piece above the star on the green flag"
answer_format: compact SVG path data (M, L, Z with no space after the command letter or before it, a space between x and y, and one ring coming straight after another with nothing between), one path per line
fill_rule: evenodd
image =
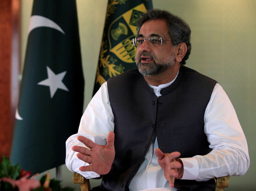
M29 28L28 28L28 35L30 34L30 32L38 27L49 27L49 28L54 28L58 31L60 31L61 33L65 34L65 32L62 30L62 28L60 28L60 26L58 26L58 24L56 24L55 22L53 22L52 20L43 17L43 16L39 16L39 15L33 15L30 17L30 22L29 22Z

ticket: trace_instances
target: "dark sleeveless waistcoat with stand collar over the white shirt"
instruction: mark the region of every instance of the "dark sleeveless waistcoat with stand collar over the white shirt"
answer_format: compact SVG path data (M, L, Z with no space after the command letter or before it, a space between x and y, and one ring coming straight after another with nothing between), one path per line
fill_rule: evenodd
M114 113L116 156L101 188L129 190L155 133L164 153L179 151L180 157L209 153L204 112L215 84L182 66L176 80L163 88L158 98L138 69L110 78L108 94Z

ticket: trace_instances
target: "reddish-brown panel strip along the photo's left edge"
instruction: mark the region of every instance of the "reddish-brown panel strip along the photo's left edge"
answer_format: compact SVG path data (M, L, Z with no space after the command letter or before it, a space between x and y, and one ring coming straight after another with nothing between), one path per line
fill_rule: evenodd
M9 157L12 143L11 128L11 52L12 1L0 2L0 161Z

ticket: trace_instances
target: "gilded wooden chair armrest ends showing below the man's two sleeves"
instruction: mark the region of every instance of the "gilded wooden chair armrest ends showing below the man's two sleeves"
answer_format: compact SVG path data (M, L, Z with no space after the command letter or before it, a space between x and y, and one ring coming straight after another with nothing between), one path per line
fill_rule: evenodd
M215 178L216 189L215 191L224 191L228 187L229 176ZM73 183L80 184L81 191L90 191L90 181L78 173L73 173Z

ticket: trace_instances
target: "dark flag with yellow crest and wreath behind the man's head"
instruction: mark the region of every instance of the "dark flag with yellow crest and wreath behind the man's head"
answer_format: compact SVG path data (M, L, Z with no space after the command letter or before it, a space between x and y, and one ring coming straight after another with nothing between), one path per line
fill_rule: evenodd
M136 48L132 44L136 23L152 8L152 0L108 0L93 94L108 78L136 68Z

